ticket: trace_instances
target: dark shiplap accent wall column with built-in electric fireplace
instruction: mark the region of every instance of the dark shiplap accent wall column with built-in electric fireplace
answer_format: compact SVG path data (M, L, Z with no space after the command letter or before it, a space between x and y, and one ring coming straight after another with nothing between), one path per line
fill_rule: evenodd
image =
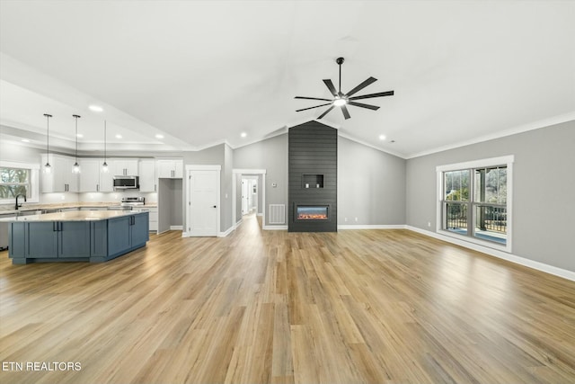
M317 121L309 121L290 128L288 133L289 232L337 232L337 182L337 129ZM309 184L309 188L305 188L305 183ZM316 188L314 183L320 183L320 188ZM328 205L329 218L327 220L297 220L295 218L296 204Z

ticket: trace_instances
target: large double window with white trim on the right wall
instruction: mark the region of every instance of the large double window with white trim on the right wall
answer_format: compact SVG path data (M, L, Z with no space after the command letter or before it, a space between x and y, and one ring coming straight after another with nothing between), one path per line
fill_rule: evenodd
M440 232L510 252L513 156L438 166Z

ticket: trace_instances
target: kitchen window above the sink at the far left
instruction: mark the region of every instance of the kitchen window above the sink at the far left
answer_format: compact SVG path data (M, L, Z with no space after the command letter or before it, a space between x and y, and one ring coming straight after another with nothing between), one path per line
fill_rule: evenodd
M40 165L0 162L0 203L12 203L23 194L26 201L38 201Z

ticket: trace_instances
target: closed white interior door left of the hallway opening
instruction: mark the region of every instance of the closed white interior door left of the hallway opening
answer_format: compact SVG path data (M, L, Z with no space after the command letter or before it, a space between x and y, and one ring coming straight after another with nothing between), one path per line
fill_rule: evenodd
M217 237L217 171L190 171L190 236Z

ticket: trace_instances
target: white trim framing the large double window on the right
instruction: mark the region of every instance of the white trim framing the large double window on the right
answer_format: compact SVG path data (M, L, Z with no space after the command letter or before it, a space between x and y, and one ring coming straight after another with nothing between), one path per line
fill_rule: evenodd
M463 163L438 165L436 166L437 177L437 211L436 211L436 233L447 237L455 237L457 239L467 241L469 243L477 244L480 246L488 246L493 249L498 249L503 252L512 252L512 239L513 239L513 163L515 156L499 156L491 157L480 160L465 161ZM497 165L507 165L507 240L505 246L485 241L477 237L469 237L466 235L458 235L454 232L443 229L443 204L442 197L444 195L444 185L442 174L449 171L458 171L464 169L484 168ZM472 175L473 176L473 175ZM471 195L472 191L470 191ZM473 205L473 204L472 204ZM472 213L472 212L470 212ZM473 214L473 213L472 213Z

